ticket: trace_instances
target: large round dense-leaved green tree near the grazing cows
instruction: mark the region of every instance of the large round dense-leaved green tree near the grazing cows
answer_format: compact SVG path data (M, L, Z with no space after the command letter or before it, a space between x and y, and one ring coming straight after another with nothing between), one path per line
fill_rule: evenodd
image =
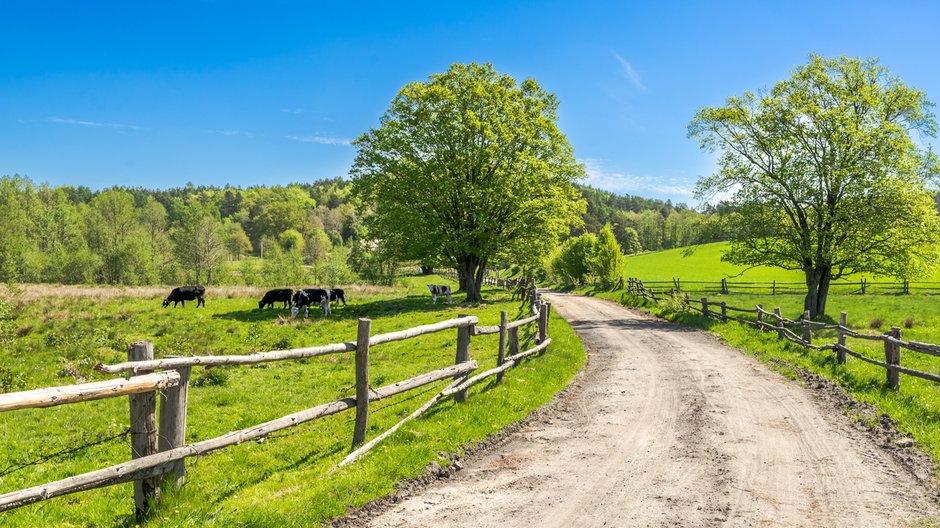
M557 108L535 80L490 64L406 85L355 141L371 232L403 260L456 269L469 302L494 259L534 267L584 212Z

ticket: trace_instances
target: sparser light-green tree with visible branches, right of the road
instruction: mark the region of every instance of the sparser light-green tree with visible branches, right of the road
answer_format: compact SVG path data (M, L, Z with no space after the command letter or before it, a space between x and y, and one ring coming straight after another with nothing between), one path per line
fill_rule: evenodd
M803 271L814 315L833 280L926 271L938 256L937 161L913 136L935 135L932 106L875 59L813 55L767 93L700 109L689 135L721 156L697 193L733 211L723 258Z

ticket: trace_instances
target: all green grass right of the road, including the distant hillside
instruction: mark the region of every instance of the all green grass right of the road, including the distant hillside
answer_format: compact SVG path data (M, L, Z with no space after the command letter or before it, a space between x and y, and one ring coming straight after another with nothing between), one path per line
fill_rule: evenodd
M691 256L682 256L682 250L663 251L630 257L627 259L625 275L643 280L682 279L720 282L722 277L740 273L742 268L720 262L725 243L707 244L695 248ZM872 278L874 279L874 278ZM760 267L744 272L735 280L749 281L797 281L798 275L782 270ZM857 280L853 278L852 280ZM890 280L890 279L889 279ZM691 286L690 286L691 288ZM901 329L902 338L909 341L940 344L940 297L912 293L910 295L877 293L859 295L849 288L834 288L827 304L826 321L838 322L839 312L846 312L849 327L869 333L882 333L892 327ZM916 290L912 290L916 291ZM706 319L696 312L679 309L678 303L668 301L655 304L642 298L628 295L626 290L588 293L611 298L627 305L644 309L673 321L696 326L719 335L728 344L753 353L757 357L784 360L799 368L809 369L836 381L856 399L874 405L887 413L899 424L899 428L918 442L934 460L940 462L940 385L901 375L901 389L895 393L885 386L885 370L875 365L849 357L847 364L836 363L831 351L814 351L805 347L779 341L775 332L758 332L747 325L736 322L719 323ZM693 294L696 301L707 297L711 301L724 301L728 306L754 308L763 304L764 309L781 308L784 316L798 319L803 312L803 294L771 295L766 293L719 293ZM754 314L728 312L735 317L755 320ZM797 332L799 332L797 330ZM814 333L814 342L833 343L834 331ZM847 346L869 357L884 360L884 346L880 342L849 338ZM940 358L901 351L901 364L925 372L940 374ZM774 368L778 368L773 364ZM785 370L785 369L784 369Z

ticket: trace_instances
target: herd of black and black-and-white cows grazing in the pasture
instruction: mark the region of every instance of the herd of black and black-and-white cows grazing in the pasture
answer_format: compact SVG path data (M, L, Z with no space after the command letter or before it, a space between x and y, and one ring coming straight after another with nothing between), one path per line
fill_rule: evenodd
M431 292L431 302L437 303L438 296L447 297L447 304L451 303L450 286L441 286L437 284L428 284L428 290ZM166 308L173 303L175 308L178 304L186 307L186 301L196 301L196 307L205 306L206 287L205 286L180 286L173 288L170 295L163 299L163 307ZM323 309L323 315L329 317L332 314L333 307L338 307L339 303L346 306L346 295L340 288L305 288L292 290L290 288L276 288L268 290L267 293L258 301L258 309L274 308L276 303L281 303L281 308L290 307L291 317L297 317L300 310L304 311L304 318L310 315L311 306L319 306Z

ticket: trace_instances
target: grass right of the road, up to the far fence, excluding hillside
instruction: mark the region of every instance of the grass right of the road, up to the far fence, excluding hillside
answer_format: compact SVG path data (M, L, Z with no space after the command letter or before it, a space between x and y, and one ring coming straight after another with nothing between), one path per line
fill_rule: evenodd
M729 345L745 350L758 358L779 359L799 368L834 380L859 401L875 406L887 413L910 435L935 461L940 462L940 385L901 374L901 388L895 393L885 385L885 370L881 367L847 358L845 365L835 361L834 352L810 350L803 346L780 341L776 332L764 333L737 322L720 323L707 319L697 312L677 311L675 303L660 304L646 301L626 293L597 292L596 295L613 299L626 305L639 306L652 313L681 324L696 326L717 334ZM709 295L710 301L725 301L728 306L753 308L764 305L765 310L780 307L783 315L797 319L803 311L802 295ZM830 294L827 301L826 321L837 323L839 312L848 314L850 328L866 333L882 333L891 327L899 327L905 341L920 341L940 344L940 297L931 295L851 295ZM755 320L754 314L730 312L739 318ZM797 330L799 333L799 330ZM815 344L834 343L835 331L814 332ZM884 361L884 345L881 342L849 338L846 345L857 352ZM916 370L940 374L940 358L918 354L907 350L901 352L901 364ZM773 368L786 368L770 362ZM790 372L789 375L793 376Z

